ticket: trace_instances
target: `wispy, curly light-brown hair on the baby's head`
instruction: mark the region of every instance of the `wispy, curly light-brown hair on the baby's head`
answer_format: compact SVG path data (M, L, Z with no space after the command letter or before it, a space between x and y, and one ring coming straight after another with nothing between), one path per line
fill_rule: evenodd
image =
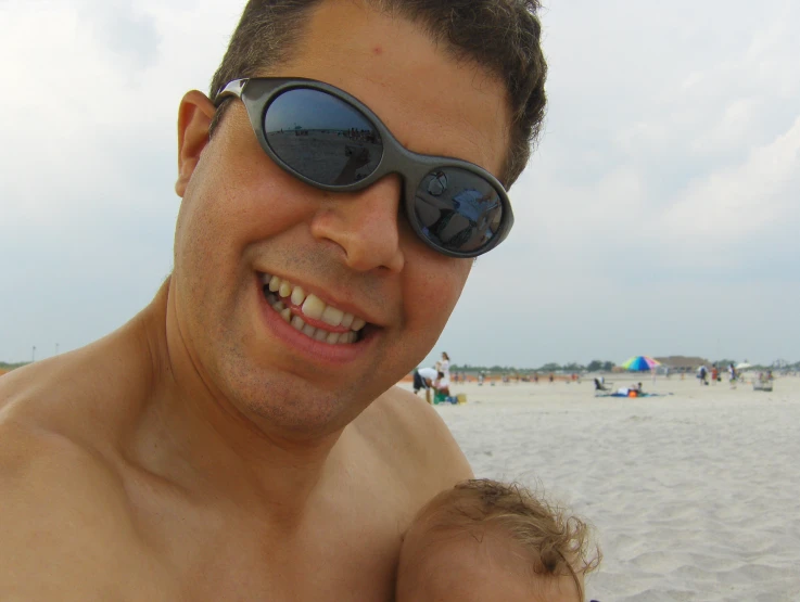
M548 577L570 576L583 600L580 576L600 564L592 528L525 487L487 478L465 481L433 498L417 515L437 533L468 529L475 537L496 528L530 554L532 568Z

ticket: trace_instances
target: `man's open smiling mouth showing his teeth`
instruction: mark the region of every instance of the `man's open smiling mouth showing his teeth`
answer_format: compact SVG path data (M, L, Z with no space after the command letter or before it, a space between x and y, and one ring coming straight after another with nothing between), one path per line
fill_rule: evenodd
M327 305L277 276L262 273L261 282L269 306L306 336L329 345L348 345L364 337L368 324L363 318Z

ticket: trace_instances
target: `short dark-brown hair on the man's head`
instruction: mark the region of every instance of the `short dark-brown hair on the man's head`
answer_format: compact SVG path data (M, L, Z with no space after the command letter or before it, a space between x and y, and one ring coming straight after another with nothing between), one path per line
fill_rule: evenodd
M211 98L233 79L255 77L288 60L302 43L307 13L320 1L249 0L212 79ZM366 1L419 24L456 59L472 61L505 82L511 107L510 146L499 180L510 188L528 164L545 115L547 63L538 0Z

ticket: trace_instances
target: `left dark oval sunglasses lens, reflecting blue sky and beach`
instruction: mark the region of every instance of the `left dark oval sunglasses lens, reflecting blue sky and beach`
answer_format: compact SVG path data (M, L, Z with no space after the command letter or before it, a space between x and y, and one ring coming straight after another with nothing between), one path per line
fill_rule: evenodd
M264 135L283 163L326 185L366 178L383 155L378 130L360 111L307 88L288 90L269 104Z

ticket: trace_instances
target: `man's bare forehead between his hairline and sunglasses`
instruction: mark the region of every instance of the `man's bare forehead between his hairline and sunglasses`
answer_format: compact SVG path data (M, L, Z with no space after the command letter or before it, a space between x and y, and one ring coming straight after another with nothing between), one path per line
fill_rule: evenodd
M297 47L268 75L308 77L367 104L405 146L456 156L496 176L510 110L503 81L457 61L418 24L360 2L322 2Z

